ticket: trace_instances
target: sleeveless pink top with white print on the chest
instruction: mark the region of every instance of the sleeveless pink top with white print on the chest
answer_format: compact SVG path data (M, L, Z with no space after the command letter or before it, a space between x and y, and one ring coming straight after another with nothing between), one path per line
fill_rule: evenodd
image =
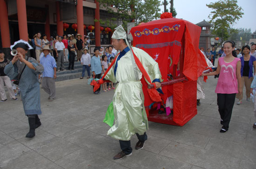
M223 58L224 57L219 58L221 71L215 92L222 94L238 93L236 79L236 64L238 61L240 61L240 58L235 58L230 63L224 62Z

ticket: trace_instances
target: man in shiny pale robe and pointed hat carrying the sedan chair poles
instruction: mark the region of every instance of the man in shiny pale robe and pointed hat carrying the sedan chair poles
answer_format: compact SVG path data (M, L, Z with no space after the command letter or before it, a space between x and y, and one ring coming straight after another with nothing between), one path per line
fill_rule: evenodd
M144 142L147 140L148 119L144 107L142 73L135 64L131 48L128 46L126 32L121 26L118 26L113 33L112 45L117 51L120 50L120 53L115 64L105 76L105 79L118 82L113 97L115 124L107 134L119 140L122 151L114 156L114 160L120 160L132 155L130 139L134 134L139 140L135 149L140 150L144 147ZM132 50L148 72L151 81L155 82L156 89L160 88L162 76L158 63L143 50L136 47Z

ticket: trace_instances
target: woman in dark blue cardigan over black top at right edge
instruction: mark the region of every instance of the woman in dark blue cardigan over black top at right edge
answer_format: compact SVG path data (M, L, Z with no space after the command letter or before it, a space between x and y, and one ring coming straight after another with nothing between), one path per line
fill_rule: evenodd
M254 56L251 56L250 53L250 47L249 45L244 45L242 48L243 56L241 59L241 76L242 76L242 87L245 85L246 88L246 100L250 100L250 86L251 82L253 80L253 71L252 68L254 68L254 74L256 72L256 58ZM236 96L239 101L236 104L242 104L243 99L243 91L241 94L237 94Z

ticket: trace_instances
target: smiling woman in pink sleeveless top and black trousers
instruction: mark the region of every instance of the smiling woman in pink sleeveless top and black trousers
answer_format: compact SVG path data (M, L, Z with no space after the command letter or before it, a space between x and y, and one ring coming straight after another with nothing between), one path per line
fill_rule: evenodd
M215 92L217 93L217 104L221 115L221 124L223 125L220 130L221 133L229 130L236 93L242 92L241 60L236 58L235 42L231 40L225 41L223 49L226 56L219 58L217 70L202 74L202 76L220 74Z

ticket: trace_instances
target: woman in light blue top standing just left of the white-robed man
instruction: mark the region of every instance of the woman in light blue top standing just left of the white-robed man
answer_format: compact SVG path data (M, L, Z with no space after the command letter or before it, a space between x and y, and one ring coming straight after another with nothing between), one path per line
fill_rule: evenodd
M98 48L94 48L94 56L91 58L91 68L93 78L101 78L101 58L100 58L100 51ZM101 86L100 88L94 92L94 94L101 94Z

